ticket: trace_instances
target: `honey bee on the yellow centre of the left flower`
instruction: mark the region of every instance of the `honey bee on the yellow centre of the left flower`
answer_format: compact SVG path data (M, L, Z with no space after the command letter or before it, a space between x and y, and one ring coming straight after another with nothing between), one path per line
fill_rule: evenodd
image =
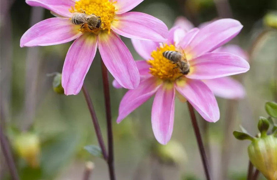
M82 25L81 28L88 25L90 30L101 28L101 17L96 16L95 14L86 14L85 11L83 13L74 13L71 18L72 24Z

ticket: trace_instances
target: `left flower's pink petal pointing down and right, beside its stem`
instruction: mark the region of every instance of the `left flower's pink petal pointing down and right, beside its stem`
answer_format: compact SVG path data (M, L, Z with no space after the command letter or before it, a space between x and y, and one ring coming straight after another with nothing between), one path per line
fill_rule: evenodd
M114 32L98 35L99 52L114 78L127 89L137 88L140 77L131 52Z

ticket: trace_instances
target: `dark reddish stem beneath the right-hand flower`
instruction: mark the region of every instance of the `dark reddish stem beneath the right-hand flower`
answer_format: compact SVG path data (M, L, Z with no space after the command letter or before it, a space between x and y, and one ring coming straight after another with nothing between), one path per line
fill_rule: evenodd
M187 103L188 103L188 110L189 110L189 113L190 113L190 116L191 116L191 123L192 123L193 129L194 129L194 132L195 132L196 140L197 140L197 143L198 143L198 148L199 148L199 151L200 151L202 163L203 163L204 170L205 170L206 179L210 180L211 178L210 178L210 171L209 171L209 167L208 167L209 165L208 165L207 156L206 156L206 153L205 153L203 141L202 141L202 138L201 138L199 126L197 124L197 120L196 120L196 117L195 117L195 112L194 112L193 107L191 106L191 104L189 102L187 102Z

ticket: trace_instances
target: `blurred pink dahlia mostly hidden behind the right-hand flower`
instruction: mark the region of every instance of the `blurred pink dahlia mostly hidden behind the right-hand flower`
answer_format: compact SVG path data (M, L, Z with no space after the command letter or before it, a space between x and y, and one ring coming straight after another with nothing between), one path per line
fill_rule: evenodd
M202 29L211 22L204 22L199 25ZM185 17L177 17L174 26L179 26L184 32L183 35L189 30L193 29L193 24ZM180 31L180 29L179 29ZM247 52L237 45L226 45L216 49L214 52L229 52L238 55L248 61ZM245 89L243 85L231 77L221 77L216 79L206 79L203 81L212 91L213 94L226 99L241 99L245 97Z

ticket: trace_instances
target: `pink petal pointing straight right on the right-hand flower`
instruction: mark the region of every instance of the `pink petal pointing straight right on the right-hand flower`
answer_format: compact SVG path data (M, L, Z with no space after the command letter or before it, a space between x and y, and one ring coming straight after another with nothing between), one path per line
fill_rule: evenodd
M243 58L227 52L209 52L190 61L190 79L215 79L245 73L250 66Z

